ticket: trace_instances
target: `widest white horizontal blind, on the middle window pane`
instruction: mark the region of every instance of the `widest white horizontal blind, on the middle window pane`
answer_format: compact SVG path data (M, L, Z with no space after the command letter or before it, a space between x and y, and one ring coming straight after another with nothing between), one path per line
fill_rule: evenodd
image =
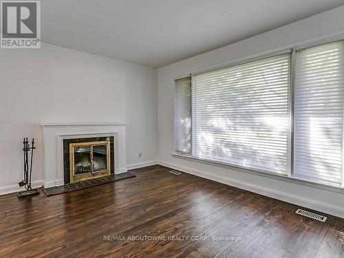
M193 155L289 172L290 54L192 77Z

